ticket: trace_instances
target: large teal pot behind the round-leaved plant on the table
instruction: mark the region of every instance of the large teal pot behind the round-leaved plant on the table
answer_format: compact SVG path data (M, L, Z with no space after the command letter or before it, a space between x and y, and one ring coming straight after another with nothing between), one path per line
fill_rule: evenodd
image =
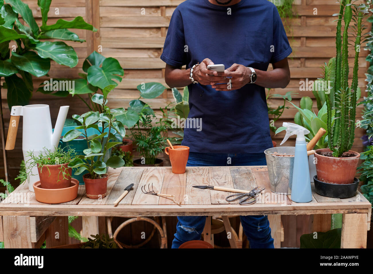
M62 130L61 136L64 136L69 130L73 130L75 127L76 126L64 127L63 130ZM98 128L100 128L100 130L102 130L102 127L98 127ZM80 129L79 131L84 132L83 129ZM109 128L106 128L104 132L108 132L108 131L109 131ZM110 130L110 132L112 134L116 134L116 130L114 130L113 128ZM97 131L95 128L88 128L87 129L87 134L88 134L88 136L91 136L93 134L100 134L100 132ZM107 139L107 137L104 137L104 142L106 142L106 139ZM120 138L119 141L122 141L122 138ZM74 139L74 140L69 141L69 142L64 142L64 141L62 141L62 138L61 138L60 139L60 147L68 149L67 146L75 149L75 152L78 155L84 155L83 150L88 149L87 140L85 140L85 138L84 139ZM109 149L106 152L106 155L104 156L104 161L106 161L107 159L110 158L111 153L112 153L112 149ZM95 157L95 159L97 159L96 157ZM74 174L75 171L76 171L76 169L74 168L72 174ZM86 173L88 173L88 172L82 172L79 175L72 175L72 178L75 178L76 180L78 180L79 184L84 184L83 175L86 174Z

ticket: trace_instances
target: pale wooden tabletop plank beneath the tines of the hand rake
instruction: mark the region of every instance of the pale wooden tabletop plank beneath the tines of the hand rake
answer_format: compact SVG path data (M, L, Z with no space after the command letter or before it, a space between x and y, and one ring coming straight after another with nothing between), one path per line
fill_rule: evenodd
M166 174L165 168L150 167L142 173L141 180L138 184L132 205L157 205L159 202L159 196L144 194L141 191L141 187L148 191L148 187L153 187L154 192L160 192L162 189L162 183L164 175Z

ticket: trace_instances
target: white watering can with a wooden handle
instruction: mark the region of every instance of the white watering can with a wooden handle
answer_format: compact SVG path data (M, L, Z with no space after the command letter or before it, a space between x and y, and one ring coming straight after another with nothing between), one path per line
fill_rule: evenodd
M45 155L46 149L52 152L56 149L61 138L68 110L69 106L60 107L54 131L52 131L48 105L12 106L10 110L10 124L5 149L14 149L19 116L23 116L22 151L26 172L28 173L28 189L32 192L34 192L32 185L39 181L39 174L37 166L32 167L30 170L29 166L31 162L28 161L29 157L26 155L30 151L34 155L39 155L40 152Z

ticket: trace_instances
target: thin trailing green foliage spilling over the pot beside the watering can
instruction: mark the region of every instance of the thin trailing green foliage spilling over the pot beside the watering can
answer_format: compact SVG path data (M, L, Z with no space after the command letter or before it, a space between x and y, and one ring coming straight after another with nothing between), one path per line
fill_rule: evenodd
M30 163L29 172L31 172L32 167L39 166L41 168L41 172L45 172L45 170L47 169L50 175L48 165L61 165L58 168L60 169L59 175L62 174L62 179L70 178L70 173L69 171L67 171L68 168L66 168L66 166L63 166L63 164L71 162L71 160L76 157L75 149L71 147L56 147L54 150L50 150L44 147L43 150L44 151L40 151L37 155L35 155L34 151L32 150L26 153L26 158L29 159L28 162ZM44 168L44 166L46 168Z

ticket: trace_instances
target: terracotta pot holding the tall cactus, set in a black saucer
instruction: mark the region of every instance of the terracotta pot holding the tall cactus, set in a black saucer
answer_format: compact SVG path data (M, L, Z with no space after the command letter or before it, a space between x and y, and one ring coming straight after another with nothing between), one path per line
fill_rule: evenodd
M329 157L320 155L319 152L330 152L330 149L317 149L316 173L318 180L329 184L351 184L354 182L356 168L360 159L360 153L354 153L354 157Z

